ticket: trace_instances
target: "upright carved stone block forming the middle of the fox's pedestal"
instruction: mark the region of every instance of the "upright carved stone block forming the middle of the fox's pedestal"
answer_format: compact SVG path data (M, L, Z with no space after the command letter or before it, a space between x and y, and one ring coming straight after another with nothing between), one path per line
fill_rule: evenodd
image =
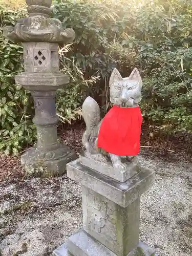
M83 229L118 256L139 242L140 198L127 207L82 187Z

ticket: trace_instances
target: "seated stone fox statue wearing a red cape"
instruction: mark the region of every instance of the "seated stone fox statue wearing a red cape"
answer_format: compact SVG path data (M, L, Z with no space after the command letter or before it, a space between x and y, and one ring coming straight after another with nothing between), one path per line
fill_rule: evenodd
M93 98L87 97L83 102L82 116L87 129L82 143L86 148L86 157L103 163L110 158L115 169L124 171L126 167L121 162L121 156L133 162L140 150L142 115L138 103L141 100L142 80L136 68L126 78L114 69L109 86L113 108L102 120L99 105Z

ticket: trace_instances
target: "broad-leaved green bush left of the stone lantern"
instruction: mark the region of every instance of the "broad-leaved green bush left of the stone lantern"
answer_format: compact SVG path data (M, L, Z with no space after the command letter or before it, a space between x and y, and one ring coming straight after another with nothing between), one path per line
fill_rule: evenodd
M34 140L35 129L30 119L32 102L29 92L14 84L14 75L23 69L23 48L5 40L2 28L14 25L25 11L17 14L2 8L0 12L0 149L6 154L17 154L26 142Z

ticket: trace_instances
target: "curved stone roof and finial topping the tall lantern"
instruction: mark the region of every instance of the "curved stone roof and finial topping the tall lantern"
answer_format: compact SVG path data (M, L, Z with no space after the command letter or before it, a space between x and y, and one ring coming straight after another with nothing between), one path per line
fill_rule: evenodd
M5 37L16 42L65 42L67 44L74 40L73 29L63 30L60 20L50 18L51 0L28 0L26 3L29 17L19 19L15 27L5 27Z

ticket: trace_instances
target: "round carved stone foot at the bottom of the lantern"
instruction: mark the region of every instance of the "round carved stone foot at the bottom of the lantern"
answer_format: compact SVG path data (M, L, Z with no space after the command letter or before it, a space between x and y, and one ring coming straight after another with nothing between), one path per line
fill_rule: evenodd
M75 151L68 146L59 144L56 150L39 152L31 147L22 155L21 163L29 175L48 177L66 173L66 164L75 160Z

